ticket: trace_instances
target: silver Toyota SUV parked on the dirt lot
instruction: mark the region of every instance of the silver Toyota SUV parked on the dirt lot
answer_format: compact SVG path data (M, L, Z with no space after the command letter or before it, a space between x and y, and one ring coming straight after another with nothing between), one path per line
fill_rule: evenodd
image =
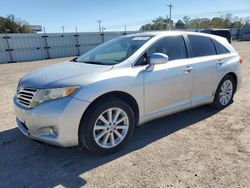
M199 105L228 106L241 63L215 35L123 36L22 78L14 97L17 125L31 139L112 153L138 124Z

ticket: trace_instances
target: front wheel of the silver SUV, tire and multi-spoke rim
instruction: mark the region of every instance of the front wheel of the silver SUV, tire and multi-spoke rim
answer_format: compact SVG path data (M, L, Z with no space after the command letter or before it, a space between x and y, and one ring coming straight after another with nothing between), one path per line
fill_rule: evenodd
M119 122L122 119L124 120ZM128 142L134 127L135 115L132 108L120 99L108 98L94 104L84 115L80 124L80 145L95 154L111 154Z

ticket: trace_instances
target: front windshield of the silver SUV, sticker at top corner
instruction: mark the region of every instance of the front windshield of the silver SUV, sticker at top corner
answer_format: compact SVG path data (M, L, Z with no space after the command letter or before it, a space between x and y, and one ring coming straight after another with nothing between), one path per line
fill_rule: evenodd
M80 63L115 65L130 57L151 36L121 37L108 41L78 57Z

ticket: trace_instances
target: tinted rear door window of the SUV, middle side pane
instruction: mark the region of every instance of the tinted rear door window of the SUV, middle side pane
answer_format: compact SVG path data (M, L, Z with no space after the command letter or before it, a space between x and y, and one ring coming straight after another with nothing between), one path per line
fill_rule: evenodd
M216 55L214 44L210 38L194 35L189 35L188 38L191 44L193 57Z

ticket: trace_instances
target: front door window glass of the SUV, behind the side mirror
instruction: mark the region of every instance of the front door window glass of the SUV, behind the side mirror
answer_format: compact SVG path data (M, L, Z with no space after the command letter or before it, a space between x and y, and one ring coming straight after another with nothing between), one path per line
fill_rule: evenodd
M147 51L147 56L149 57L153 53L166 54L169 60L187 58L186 47L182 36L171 36L159 40Z

